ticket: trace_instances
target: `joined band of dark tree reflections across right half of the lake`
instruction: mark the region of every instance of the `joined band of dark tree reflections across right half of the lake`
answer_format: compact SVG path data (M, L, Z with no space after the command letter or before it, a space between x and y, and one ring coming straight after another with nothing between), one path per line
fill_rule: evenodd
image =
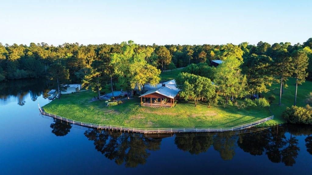
M286 137L286 133L289 136ZM223 160L231 160L235 148L239 146L251 155L266 154L273 163L293 166L299 154L298 135L308 135L305 139L307 151L312 154L312 128L310 125L279 125L257 132L234 134L232 132L210 133L209 135L176 134L174 143L178 149L190 154L206 152L211 145Z

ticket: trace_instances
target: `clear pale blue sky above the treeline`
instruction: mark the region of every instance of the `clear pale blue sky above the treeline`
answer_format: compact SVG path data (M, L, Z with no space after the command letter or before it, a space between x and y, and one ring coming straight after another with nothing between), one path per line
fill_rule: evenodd
M311 7L311 0L2 0L0 42L294 45L312 37Z

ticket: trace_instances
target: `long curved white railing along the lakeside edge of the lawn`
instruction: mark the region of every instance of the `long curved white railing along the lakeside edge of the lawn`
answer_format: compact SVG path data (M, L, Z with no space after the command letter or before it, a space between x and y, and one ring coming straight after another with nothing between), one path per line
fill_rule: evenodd
M39 103L38 103L39 106ZM88 128L96 128L96 129L104 129L104 130L115 130L115 131L127 131L127 132L135 132L135 133L179 133L179 132L223 132L223 131L235 131L242 130L246 128L250 128L255 125L259 125L260 123L266 122L268 120L274 119L274 116L270 116L264 118L259 121L254 121L245 125L235 126L232 128L152 128L152 129L142 129L142 128L131 128L125 126L115 126L115 125L100 125L93 123L85 123L81 121L74 121L70 119L63 118L61 116L56 116L55 114L46 113L39 106L39 110L41 115L49 116L55 119L59 119L61 121L71 123L74 125L84 126Z

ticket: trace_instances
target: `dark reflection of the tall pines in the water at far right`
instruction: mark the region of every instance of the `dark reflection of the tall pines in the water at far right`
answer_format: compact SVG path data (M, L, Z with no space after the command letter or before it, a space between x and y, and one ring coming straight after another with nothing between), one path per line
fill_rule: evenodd
M273 163L284 163L293 166L299 154L298 135L309 135L311 133L308 125L278 125L262 132L248 133L242 135L242 142L238 146L251 155L262 155L264 152ZM286 137L289 133L289 138ZM309 136L305 139L309 142ZM309 150L309 144L306 144Z

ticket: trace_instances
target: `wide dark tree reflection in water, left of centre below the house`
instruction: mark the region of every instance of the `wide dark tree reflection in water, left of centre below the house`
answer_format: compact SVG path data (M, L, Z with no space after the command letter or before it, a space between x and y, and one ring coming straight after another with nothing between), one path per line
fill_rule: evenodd
M107 132L105 130L89 129L85 136L94 141L95 149L110 160L121 165L125 162L126 167L136 167L145 164L150 151L160 149L161 139L144 137L143 134L130 136L122 133Z

